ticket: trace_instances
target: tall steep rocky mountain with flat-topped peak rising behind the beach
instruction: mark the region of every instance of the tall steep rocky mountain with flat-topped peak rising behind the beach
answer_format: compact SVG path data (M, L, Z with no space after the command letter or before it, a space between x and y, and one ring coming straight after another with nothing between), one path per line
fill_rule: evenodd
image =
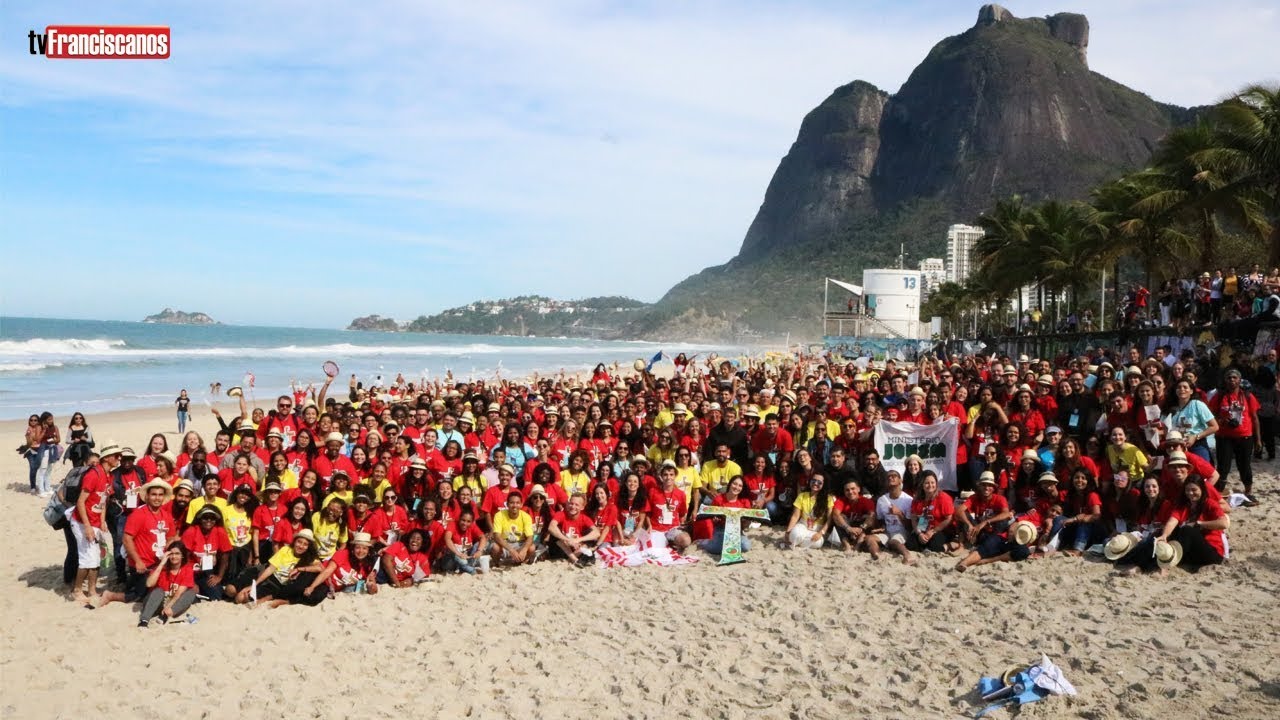
M635 334L820 333L822 278L943 256L947 225L995 200L1083 199L1146 163L1193 110L1088 67L1084 15L984 5L890 95L854 81L800 123L737 256L673 287Z

